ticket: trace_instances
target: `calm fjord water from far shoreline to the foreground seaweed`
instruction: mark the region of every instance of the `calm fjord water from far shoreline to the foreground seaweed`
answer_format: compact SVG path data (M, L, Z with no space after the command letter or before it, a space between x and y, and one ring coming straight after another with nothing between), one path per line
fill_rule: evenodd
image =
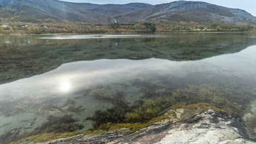
M92 127L86 118L112 107L117 93L132 105L177 88L239 88L251 97L241 90L230 101L252 104L255 44L255 35L241 33L0 35L0 135L30 132L49 115L65 114L79 119L84 128L78 131L85 131Z

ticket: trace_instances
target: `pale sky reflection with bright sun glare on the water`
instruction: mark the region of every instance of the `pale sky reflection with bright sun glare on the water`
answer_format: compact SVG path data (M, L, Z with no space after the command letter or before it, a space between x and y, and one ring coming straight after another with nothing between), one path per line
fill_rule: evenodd
M175 62L165 59L101 59L73 62L48 73L0 85L0 99L69 95L104 83L123 83L136 77L184 77L191 71L232 72L255 78L256 46L200 61ZM200 73L199 72L199 73Z

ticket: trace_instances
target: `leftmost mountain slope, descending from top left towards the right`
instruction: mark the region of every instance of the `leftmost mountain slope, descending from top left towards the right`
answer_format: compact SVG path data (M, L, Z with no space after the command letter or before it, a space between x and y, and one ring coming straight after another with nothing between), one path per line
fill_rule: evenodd
M4 0L0 3L0 17L16 21L37 22L38 19L97 21L67 5L53 0ZM8 11L11 13L8 14Z

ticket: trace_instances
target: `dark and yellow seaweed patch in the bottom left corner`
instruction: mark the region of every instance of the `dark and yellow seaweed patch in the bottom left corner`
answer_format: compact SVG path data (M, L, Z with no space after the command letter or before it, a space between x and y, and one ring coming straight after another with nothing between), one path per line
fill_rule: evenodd
M64 116L48 116L48 121L34 129L30 133L20 134L15 129L8 131L0 136L1 143L21 143L24 141L45 142L60 138L66 138L78 135L75 131L83 129L84 125L77 123L78 119L74 119L72 115Z

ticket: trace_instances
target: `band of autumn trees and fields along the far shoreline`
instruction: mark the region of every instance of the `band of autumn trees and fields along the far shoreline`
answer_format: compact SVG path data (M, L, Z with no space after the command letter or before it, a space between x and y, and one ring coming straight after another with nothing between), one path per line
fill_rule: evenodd
M133 22L133 23L111 23L92 24L83 22L2 22L0 33L165 33L177 31L253 31L252 25L231 25L230 23L211 23L211 25L199 25L198 23L168 23L163 21Z

